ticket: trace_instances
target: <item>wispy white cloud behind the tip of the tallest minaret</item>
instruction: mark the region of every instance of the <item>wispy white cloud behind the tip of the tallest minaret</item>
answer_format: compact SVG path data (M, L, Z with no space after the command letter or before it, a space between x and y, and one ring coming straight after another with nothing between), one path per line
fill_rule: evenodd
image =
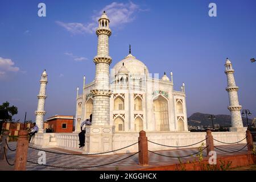
M119 27L123 24L130 23L135 19L135 13L138 11L145 11L139 9L138 5L135 5L133 2L129 3L117 3L113 2L110 5L105 6L101 9L100 12L94 13L92 16L92 22L89 23L64 23L60 21L56 21L56 23L64 27L67 31L71 32L72 34L85 34L89 33L92 34L95 32L98 26L98 19L100 18L103 11L106 11L107 15L110 19L110 26L111 27Z

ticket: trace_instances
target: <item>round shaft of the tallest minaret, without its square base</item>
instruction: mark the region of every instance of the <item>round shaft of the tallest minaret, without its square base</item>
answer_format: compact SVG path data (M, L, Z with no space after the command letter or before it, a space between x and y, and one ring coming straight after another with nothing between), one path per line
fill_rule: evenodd
M96 64L96 75L94 89L91 90L93 95L93 117L92 125L109 125L109 97L112 92L109 87L109 65L112 58L109 56L109 18L105 11L98 20L96 34L98 36L97 56L93 61Z

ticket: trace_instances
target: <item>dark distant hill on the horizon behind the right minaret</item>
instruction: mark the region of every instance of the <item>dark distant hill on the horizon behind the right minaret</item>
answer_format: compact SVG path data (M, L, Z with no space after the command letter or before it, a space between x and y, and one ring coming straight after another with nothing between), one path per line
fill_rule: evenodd
M194 113L189 117L188 125L191 126L212 126L212 119L208 119L210 114L203 114L203 113ZM220 124L221 127L231 127L231 117L230 115L219 114L215 115L216 119L213 119L214 123ZM243 118L243 126L247 125L246 118ZM249 119L249 124L251 124L252 119Z

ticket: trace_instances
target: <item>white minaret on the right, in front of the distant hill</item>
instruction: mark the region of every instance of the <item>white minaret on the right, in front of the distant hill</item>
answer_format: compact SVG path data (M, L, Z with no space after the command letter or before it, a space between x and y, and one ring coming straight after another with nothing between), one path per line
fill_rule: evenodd
M243 122L241 117L241 109L242 106L238 101L238 86L236 86L236 82L234 80L234 69L232 68L232 63L227 58L225 64L225 73L228 80L228 87L226 87L226 91L229 94L229 107L230 115L231 115L231 123L232 127L230 131L243 131Z

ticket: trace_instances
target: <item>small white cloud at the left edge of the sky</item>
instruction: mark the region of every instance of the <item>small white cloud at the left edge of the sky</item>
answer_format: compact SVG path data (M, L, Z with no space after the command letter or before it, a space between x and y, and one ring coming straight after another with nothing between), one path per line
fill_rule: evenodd
M19 68L14 66L11 59L0 57L0 77L5 76L7 72L18 72Z

